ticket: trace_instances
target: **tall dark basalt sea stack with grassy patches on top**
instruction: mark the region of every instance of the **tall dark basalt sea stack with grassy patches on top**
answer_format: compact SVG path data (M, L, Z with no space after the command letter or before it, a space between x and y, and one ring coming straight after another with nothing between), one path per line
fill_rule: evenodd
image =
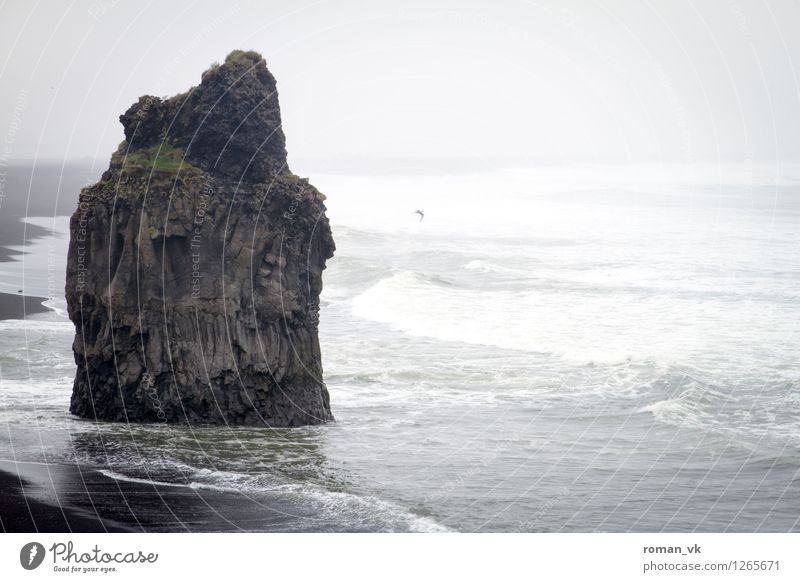
M332 420L317 338L334 243L286 165L275 79L235 51L199 86L142 97L70 223L70 410L129 422Z

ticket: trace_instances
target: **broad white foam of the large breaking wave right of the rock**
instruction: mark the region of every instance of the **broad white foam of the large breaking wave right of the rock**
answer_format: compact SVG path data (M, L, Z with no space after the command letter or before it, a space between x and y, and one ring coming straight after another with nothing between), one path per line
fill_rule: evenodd
M737 353L736 363L749 366L748 354L763 354L763 344L751 341L753 329L772 337L762 341L780 361L791 355L798 328L785 306L774 303L750 302L732 311L727 300L713 296L459 289L413 271L378 281L353 300L352 310L417 336L558 354L579 364L688 362L713 346Z

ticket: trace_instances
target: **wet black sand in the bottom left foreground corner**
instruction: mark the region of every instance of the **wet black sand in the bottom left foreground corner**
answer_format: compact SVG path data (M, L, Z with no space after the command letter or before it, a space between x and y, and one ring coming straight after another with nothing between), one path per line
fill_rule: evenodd
M0 461L5 532L314 531L309 517L244 493L119 481L76 465Z

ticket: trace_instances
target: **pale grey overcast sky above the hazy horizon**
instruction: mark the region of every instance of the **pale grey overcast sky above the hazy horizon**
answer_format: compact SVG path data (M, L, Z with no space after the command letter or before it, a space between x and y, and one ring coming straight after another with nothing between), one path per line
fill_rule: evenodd
M797 1L6 0L0 47L10 160L106 160L235 48L290 158L800 159Z

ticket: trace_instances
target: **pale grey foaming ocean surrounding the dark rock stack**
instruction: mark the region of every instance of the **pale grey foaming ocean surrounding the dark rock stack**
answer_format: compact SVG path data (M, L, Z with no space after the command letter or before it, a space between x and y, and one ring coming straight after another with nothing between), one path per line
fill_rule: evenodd
M246 496L282 531L800 530L800 167L310 178L335 423L72 417L68 219L33 217L0 290L52 311L0 321L0 460Z

